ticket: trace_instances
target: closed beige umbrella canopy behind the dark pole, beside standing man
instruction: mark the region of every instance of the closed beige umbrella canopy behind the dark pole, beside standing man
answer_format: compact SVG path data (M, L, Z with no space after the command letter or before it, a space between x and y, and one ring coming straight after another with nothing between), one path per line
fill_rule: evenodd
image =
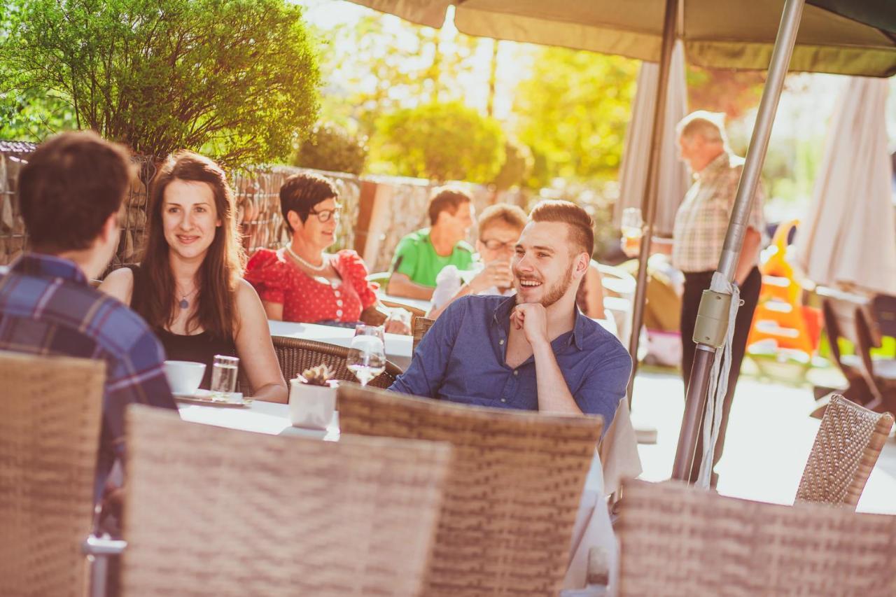
M671 236L678 205L685 198L691 184L685 162L678 158L676 123L687 115L685 85L685 56L681 42L672 53L669 72L666 118L663 121L661 153L659 155L659 196L653 231ZM653 108L657 103L659 65L644 62L638 73L637 91L632 107L632 122L625 132L625 150L619 169L619 200L614 206L616 228L626 207L642 207L647 186L647 163L650 160L650 134L653 131Z

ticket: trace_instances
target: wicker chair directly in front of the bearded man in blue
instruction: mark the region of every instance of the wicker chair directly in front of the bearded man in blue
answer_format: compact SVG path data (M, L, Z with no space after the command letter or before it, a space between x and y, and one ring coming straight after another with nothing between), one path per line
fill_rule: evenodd
M342 437L455 448L427 597L559 593L599 417L470 407L355 384L337 394Z

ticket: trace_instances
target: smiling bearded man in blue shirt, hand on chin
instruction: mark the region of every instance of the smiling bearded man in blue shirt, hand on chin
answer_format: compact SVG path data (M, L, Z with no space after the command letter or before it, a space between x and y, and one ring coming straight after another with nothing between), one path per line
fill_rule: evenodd
M581 207L543 201L513 256L515 297L455 300L420 342L402 394L498 408L599 414L609 427L632 370L616 336L575 294L594 247Z

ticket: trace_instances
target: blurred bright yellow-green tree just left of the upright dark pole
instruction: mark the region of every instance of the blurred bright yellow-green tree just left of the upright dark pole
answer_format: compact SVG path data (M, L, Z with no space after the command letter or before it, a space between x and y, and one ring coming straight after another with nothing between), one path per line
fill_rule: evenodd
M565 48L539 53L513 109L519 138L542 175L531 183L616 177L638 67L636 60Z

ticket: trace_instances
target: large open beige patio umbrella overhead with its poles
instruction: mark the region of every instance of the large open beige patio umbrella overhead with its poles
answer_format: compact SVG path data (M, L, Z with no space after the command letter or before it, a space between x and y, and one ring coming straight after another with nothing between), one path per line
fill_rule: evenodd
M719 256L719 287L701 304L697 333L701 333L685 397L685 416L678 437L674 479L688 480L697 433L717 350L725 352L737 313L731 285L743 245L752 197L759 184L768 149L771 123L778 109L788 67L794 70L885 77L896 73L896 11L891 0L591 0L588 3L541 0L353 0L409 21L439 27L444 11L455 4L454 23L464 33L590 49L643 60L659 60L659 85L650 141L647 193L642 210L647 229L642 242L634 327L642 322L647 257L656 212L660 132L663 130L669 66L675 39L683 39L694 64L728 68L768 69L744 171ZM808 6L806 5L808 2ZM780 22L777 15L780 14ZM660 24L661 23L661 24ZM800 25L803 24L801 29ZM777 32L776 32L777 31ZM773 43L772 43L773 42ZM797 45L798 43L798 45ZM715 287L715 283L713 284ZM727 299L726 299L727 297ZM726 309L711 309L724 305ZM630 354L637 354L638 333L632 334ZM635 365L637 360L635 359ZM724 366L723 366L724 368ZM634 371L633 371L634 373ZM716 396L725 392L717 387ZM629 385L631 400L632 385ZM711 413L708 413L708 415ZM709 418L709 417L708 417ZM714 439L705 443L713 446Z

